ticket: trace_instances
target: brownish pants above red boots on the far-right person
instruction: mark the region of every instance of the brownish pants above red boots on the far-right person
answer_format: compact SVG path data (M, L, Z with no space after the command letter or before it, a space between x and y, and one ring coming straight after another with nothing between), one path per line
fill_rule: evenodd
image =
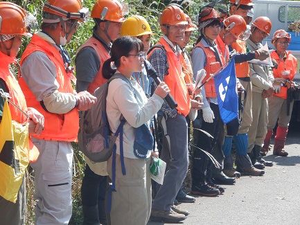
M288 100L273 96L268 98L269 101L269 122L267 123L267 129L272 130L276 126L277 119L280 127L288 127L290 118L292 116L292 107L294 101L290 103L290 115L287 116L287 102Z

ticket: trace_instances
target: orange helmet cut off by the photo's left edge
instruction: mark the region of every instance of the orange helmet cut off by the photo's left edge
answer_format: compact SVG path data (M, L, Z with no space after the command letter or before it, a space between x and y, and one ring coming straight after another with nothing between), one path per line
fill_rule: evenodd
M28 33L26 22L28 13L15 3L0 2L0 35L24 35L32 37Z

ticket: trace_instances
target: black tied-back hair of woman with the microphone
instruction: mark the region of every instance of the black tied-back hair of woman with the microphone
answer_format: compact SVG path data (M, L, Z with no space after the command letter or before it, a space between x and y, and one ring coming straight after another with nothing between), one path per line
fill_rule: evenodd
M121 65L121 57L127 57L132 50L135 50L136 53L143 51L143 42L141 42L141 40L136 37L118 37L112 44L112 49L110 51L111 57L103 63L103 78L112 78L112 75L116 73L116 68ZM114 66L116 68L112 68L111 62L114 62Z

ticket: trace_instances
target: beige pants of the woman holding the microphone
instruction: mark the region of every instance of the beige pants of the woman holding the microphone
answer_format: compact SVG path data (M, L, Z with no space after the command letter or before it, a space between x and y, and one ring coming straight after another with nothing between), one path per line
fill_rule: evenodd
M112 192L111 225L147 224L151 212L150 158L124 157L126 174L122 174L120 155L116 154L116 192ZM112 179L112 157L107 161Z

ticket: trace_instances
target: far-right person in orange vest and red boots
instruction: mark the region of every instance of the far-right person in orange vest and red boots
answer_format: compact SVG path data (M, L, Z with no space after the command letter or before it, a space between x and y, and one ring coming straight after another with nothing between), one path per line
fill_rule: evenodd
M273 129L278 120L278 127L276 130L276 136L274 139L273 154L279 156L288 156L288 152L285 152L285 138L288 134L288 125L292 116L292 107L294 101L288 101L288 87L287 84L294 79L294 75L297 72L297 59L290 51L287 51L288 45L291 41L291 35L285 30L277 30L272 37L272 44L276 48L271 53L272 59L276 60L278 67L273 68L274 75L274 93L268 98L269 100L269 114L267 123L267 134L261 154L264 156L269 151L270 141L273 135ZM290 108L290 114L287 114L288 107Z

